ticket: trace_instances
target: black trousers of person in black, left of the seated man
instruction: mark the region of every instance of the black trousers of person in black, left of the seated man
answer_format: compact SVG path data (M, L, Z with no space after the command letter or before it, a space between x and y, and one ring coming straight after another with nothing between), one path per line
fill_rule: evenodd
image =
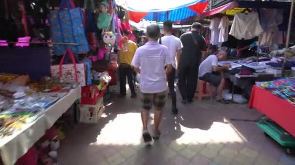
M181 65L178 70L178 87L183 100L193 101L197 88L198 65Z

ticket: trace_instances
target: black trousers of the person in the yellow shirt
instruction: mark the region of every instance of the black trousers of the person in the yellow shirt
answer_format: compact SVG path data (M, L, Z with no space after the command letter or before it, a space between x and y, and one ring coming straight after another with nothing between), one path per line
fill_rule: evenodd
M121 65L119 67L120 77L120 94L126 95L126 77L128 79L131 95L136 95L133 81L133 69L128 65Z

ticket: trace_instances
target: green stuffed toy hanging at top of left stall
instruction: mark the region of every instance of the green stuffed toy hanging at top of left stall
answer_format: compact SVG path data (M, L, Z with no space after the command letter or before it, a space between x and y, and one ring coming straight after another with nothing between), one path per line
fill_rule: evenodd
M97 27L99 29L109 29L111 25L112 17L109 12L109 4L106 1L102 1L99 6L100 14L98 16Z

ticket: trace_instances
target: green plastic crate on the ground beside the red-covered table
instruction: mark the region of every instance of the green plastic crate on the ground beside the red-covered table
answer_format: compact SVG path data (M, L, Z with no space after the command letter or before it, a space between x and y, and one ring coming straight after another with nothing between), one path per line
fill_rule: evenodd
M264 131L264 134L276 140L280 145L284 147L295 147L295 137L269 118L262 117L257 122L257 126Z

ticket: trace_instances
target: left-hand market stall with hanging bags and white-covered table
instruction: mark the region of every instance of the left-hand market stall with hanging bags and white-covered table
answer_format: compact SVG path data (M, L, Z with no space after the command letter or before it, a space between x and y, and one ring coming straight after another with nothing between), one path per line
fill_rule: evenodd
M114 0L88 2L0 2L10 23L0 26L0 164L56 163L57 121L71 107L71 120L98 123L131 27Z

